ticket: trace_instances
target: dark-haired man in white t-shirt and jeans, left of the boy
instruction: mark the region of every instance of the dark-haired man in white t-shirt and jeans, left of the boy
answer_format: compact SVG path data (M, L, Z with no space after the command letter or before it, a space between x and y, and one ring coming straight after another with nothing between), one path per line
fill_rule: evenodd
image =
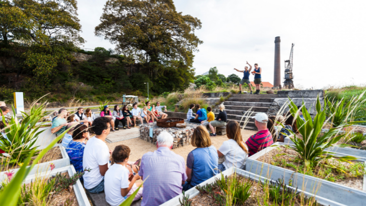
M110 119L98 117L92 128L96 135L88 140L83 154L83 168L91 169L83 175L84 187L91 193L100 193L104 190L104 174L112 153L104 142L110 132Z

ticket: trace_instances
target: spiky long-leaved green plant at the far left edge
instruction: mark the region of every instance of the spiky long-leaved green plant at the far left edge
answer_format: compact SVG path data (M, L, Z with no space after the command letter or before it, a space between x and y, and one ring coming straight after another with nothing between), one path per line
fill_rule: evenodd
M1 111L0 111L1 112ZM15 109L13 107L15 114ZM32 114L26 117L21 123L19 123L14 117L9 121L9 126L4 128L3 136L0 133L0 149L6 151L9 154L10 160L8 164L23 163L29 156L36 156L38 146L34 146L34 143L38 139L38 135L43 131L38 131L41 125L36 126L36 123L41 119L41 116ZM5 123L3 116L2 121ZM35 128L35 129L32 129ZM36 151L36 153L33 153Z

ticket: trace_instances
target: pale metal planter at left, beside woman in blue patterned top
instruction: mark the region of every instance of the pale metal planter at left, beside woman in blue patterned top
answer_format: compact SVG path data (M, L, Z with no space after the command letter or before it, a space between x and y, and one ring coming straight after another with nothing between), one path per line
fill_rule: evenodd
M45 172L45 171L51 170L50 163L55 164L55 169L62 168L62 167L70 165L70 158L69 158L69 155L66 152L65 147L63 147L61 144L56 144L54 147L56 147L56 146L59 146L59 148L61 150L62 159L56 159L56 160L53 160L53 161L48 161L48 162L43 162L43 163L36 164L33 167L33 169L29 172L29 175L36 174L37 172ZM46 147L43 147L43 148L46 148ZM42 147L40 149L42 149ZM10 169L10 171L13 171L13 170L15 171L15 173L17 173L19 168ZM6 171L0 172L0 181L7 178L7 175L5 174L5 172Z

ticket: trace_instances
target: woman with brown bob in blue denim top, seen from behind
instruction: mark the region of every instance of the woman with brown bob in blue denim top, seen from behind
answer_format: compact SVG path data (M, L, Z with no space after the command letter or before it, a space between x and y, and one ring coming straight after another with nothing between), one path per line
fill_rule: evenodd
M218 173L219 156L215 146L211 145L210 134L206 127L198 126L193 131L192 150L187 157L187 181L183 190L187 191Z

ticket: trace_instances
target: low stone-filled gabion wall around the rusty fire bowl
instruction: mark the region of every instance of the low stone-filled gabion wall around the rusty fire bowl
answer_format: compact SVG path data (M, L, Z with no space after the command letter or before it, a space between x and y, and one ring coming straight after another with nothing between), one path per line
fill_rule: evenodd
M152 144L156 145L156 138L162 131L169 132L173 138L173 149L177 147L182 147L191 144L191 137L193 131L197 126L200 124L195 123L188 123L185 122L187 127L186 128L177 128L177 127L158 127L156 126L156 122L143 124L140 126L140 138L142 140L148 141ZM152 128L152 138L150 137L150 128Z

